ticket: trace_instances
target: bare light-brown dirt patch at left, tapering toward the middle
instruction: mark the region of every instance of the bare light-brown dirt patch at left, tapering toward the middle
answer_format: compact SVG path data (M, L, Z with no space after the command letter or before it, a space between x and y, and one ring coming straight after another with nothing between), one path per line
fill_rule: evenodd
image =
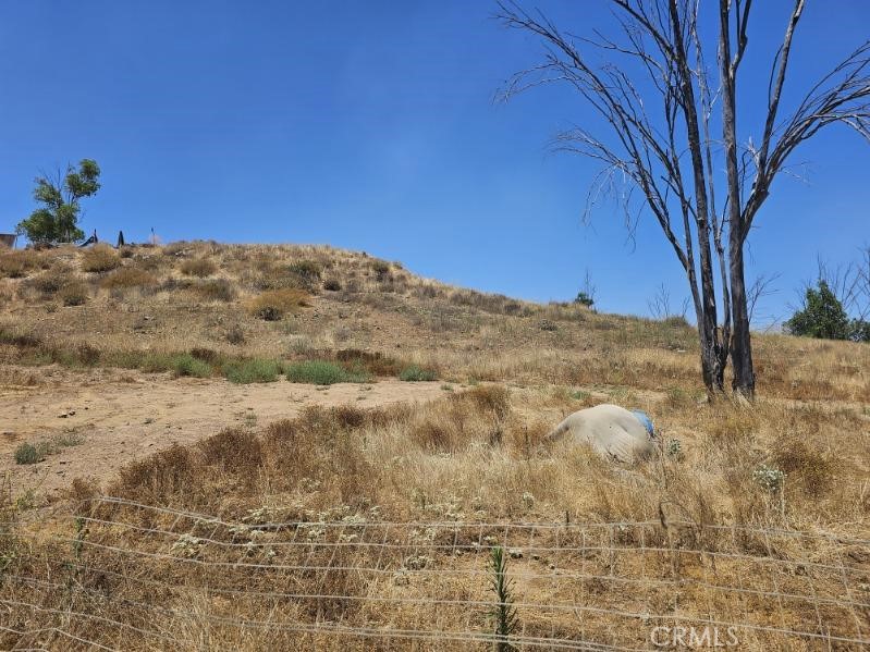
M0 385L0 477L10 478L16 493L35 490L51 496L78 477L105 482L124 464L173 443L188 444L229 426L291 418L310 405L370 408L426 402L444 393L439 382L397 380L317 387L286 381L237 385L115 370L95 370L83 379L56 369L49 377L49 386ZM56 445L57 452L38 464L15 464L21 443L63 435L83 441Z

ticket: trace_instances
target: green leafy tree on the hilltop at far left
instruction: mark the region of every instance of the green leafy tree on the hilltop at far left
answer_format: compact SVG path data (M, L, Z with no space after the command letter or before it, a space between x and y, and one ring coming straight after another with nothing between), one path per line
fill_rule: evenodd
M19 223L17 232L34 244L73 243L84 238L78 227L79 201L97 194L99 176L100 168L93 159L82 159L78 170L66 165L66 173L58 171L54 180L37 176L34 199L41 206Z

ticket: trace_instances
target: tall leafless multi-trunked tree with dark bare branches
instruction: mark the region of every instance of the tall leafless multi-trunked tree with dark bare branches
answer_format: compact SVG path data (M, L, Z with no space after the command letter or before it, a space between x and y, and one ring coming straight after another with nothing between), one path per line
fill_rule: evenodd
M713 0L704 4L715 8L709 15L701 14L700 0L606 1L618 37L599 30L575 36L516 0L499 0L497 15L505 26L531 33L544 45L543 60L514 74L502 98L559 83L593 109L603 125L600 134L577 126L554 142L559 150L602 163L587 196L587 213L602 194L615 193L629 229L638 204L651 214L689 284L709 394L724 391L731 357L734 391L751 397L756 381L744 278L746 239L773 181L801 143L835 123L870 140L870 40L810 85L784 118L783 90L805 7L805 0L793 0L782 45L770 64L763 133L758 139L745 138L737 128L738 73L749 42L752 0ZM711 42L700 36L710 32L699 29L701 19L718 27ZM587 50L603 54L603 63L593 62ZM715 77L706 58L718 60ZM713 135L715 128L721 139ZM716 186L724 187L719 198Z

